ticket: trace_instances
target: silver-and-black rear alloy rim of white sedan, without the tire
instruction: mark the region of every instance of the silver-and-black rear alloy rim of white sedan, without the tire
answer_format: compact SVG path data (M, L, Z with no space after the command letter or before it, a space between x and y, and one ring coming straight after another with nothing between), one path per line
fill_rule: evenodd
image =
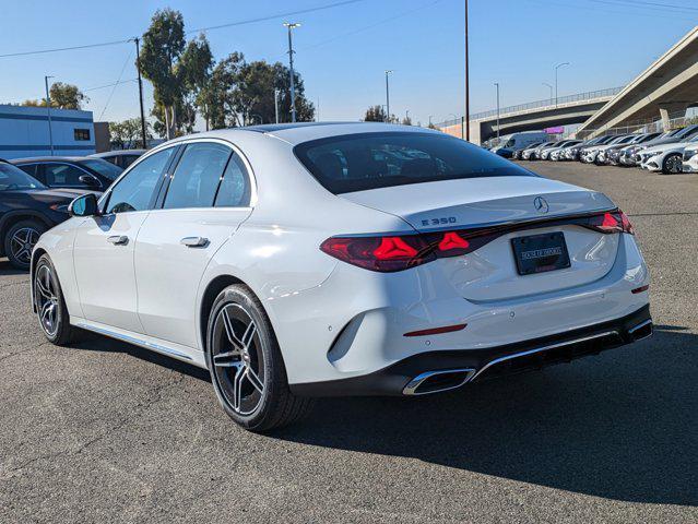
M214 380L229 407L250 415L264 397L264 356L259 331L250 314L227 303L213 324L211 357Z

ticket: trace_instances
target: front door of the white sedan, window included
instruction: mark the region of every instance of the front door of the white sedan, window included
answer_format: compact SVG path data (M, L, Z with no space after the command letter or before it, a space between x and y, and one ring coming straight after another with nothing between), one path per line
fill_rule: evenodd
M87 320L143 332L137 311L135 238L157 200L176 150L159 151L133 166L102 199L103 213L78 227L73 261Z

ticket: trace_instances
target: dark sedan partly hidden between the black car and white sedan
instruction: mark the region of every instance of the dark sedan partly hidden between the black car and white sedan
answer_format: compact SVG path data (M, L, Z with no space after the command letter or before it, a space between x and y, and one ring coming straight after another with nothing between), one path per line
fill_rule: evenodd
M88 156L40 156L9 160L48 188L104 191L123 169Z

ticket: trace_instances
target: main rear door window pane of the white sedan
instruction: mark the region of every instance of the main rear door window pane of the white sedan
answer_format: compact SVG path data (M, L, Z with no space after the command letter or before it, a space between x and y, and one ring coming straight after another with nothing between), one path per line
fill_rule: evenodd
M163 207L212 207L230 153L230 148L222 144L187 145L169 182Z

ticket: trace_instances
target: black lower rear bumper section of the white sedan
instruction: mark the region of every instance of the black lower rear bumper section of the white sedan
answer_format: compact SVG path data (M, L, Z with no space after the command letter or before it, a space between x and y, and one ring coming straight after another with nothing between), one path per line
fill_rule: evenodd
M486 349L439 350L413 355L385 369L348 379L292 384L301 396L421 394L415 378L458 373L454 386L506 377L620 347L652 334L649 305L612 321ZM417 385L415 385L417 384ZM453 389L447 382L442 390ZM442 391L437 390L437 391ZM426 392L431 392L425 390ZM436 392L436 391L434 391Z

